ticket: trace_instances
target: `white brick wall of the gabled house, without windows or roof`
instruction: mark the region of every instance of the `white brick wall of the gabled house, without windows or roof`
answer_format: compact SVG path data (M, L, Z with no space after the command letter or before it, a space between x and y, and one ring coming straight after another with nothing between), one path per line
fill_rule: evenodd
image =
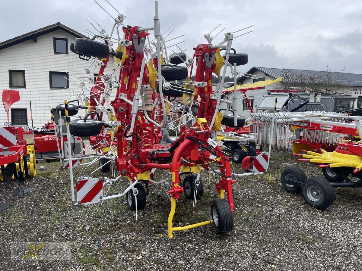
M90 61L79 59L78 55L69 51L68 55L54 54L53 38L68 39L68 48L76 39L66 31L56 30L37 37L37 42L27 40L0 50L0 91L3 89L19 90L20 101L14 103L11 108L28 109L28 126L31 126L30 106L33 111L34 126L41 127L50 120L50 107L64 103L64 99L73 100L79 97L64 89L50 89L49 72L69 72L74 76L80 76ZM105 72L109 72L113 66L113 59L109 62ZM25 88L9 87L9 70L25 70ZM97 73L97 68L94 73ZM92 74L93 75L93 74ZM73 80L72 76L69 76ZM74 81L74 80L73 80ZM75 83L69 82L70 89L81 91ZM115 94L113 94L114 96ZM10 108L10 109L11 109ZM7 121L4 108L0 108L0 126ZM11 121L11 114L10 114Z

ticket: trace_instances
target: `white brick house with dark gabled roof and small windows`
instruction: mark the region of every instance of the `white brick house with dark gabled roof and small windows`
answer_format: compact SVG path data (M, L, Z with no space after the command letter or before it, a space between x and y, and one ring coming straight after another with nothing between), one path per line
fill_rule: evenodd
M34 126L40 128L50 120L49 107L64 103L64 99L76 97L67 88L80 91L67 73L80 76L90 61L79 59L69 50L76 38L83 34L62 25L60 22L31 31L0 43L0 92L3 89L19 90L20 101L10 108L11 122L15 126L31 126L30 104ZM110 59L106 72L111 70ZM98 73L99 68L94 70ZM74 81L74 80L73 80ZM7 121L4 108L0 108L0 124Z

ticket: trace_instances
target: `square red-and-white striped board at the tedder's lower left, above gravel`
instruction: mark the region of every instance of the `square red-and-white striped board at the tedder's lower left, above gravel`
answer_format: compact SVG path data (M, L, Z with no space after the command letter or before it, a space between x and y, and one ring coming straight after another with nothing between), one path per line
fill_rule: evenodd
M102 178L81 176L76 182L77 201L79 204L87 205L100 202L103 198Z

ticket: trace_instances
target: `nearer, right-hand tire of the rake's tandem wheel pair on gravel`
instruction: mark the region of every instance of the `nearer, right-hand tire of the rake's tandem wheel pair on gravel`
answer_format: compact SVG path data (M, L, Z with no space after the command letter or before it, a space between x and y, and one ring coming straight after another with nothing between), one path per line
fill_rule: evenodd
M313 192L317 194L312 195ZM320 177L308 178L302 185L302 195L309 205L320 210L331 206L335 198L332 185Z

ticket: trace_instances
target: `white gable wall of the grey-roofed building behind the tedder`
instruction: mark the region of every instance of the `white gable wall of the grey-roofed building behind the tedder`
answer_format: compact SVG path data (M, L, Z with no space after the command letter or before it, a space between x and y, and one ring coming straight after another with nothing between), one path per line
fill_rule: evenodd
M257 70L256 72L253 73L256 77L255 78L264 78L265 80L274 80L274 78L266 76L263 72L260 72L259 70ZM244 80L244 82L242 84L247 84L247 83L253 83L253 78L247 78ZM268 93L269 89L274 89L275 86L274 85L269 85L266 86L264 89L256 89L256 90L250 90L247 91L247 96L249 101L251 99L253 99L253 110L256 110L256 106L257 104L260 102L260 100ZM233 98L233 93L229 93L227 94L228 97ZM243 93L239 93L237 95L237 115L241 115L241 116L245 116L247 119L249 119L251 117L251 111L248 109L245 109L244 107L244 103L246 103L245 99L243 98L244 94ZM222 103L222 108L226 108L226 104ZM245 109L245 110L244 110Z

